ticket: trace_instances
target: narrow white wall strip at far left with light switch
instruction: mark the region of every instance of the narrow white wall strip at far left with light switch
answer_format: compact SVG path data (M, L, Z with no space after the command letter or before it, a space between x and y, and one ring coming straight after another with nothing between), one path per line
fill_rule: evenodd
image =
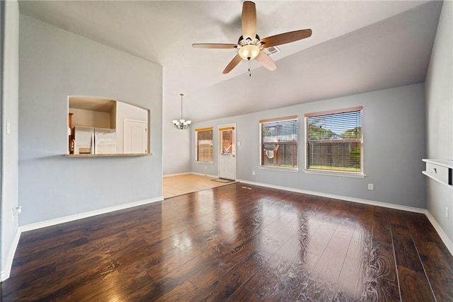
M9 276L17 244L18 219L12 208L18 205L18 49L19 9L17 1L4 1L4 53L1 108L1 279ZM3 16L1 16L3 17ZM2 18L3 19L3 18ZM6 122L11 132L6 132Z

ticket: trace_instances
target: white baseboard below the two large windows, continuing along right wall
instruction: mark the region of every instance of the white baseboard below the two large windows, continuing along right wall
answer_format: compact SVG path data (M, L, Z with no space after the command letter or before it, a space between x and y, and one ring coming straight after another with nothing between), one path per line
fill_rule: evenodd
M439 234L440 238L442 241L445 243L447 246L447 249L453 256L453 243L452 240L450 240L445 233L444 230L440 227L439 223L435 220L435 218L430 214L430 212L427 209L420 209L420 208L415 208L415 207L406 207L406 206L401 206L399 204L391 204L388 202L375 202L373 200L367 200L367 199L360 199L360 198L354 198L354 197L345 197L345 196L340 196L340 195L334 195L334 194L326 194L326 193L321 193L321 192L313 192L313 191L307 191L307 190L300 190L300 189L294 189L292 187L281 187L278 185L268 185L265 183L260 183L260 182L250 182L248 180L237 180L242 183L250 184L250 185L259 185L261 187L271 187L273 189L279 189L279 190L285 190L285 191L291 191L291 192L297 192L297 193L304 193L304 194L310 194L310 195L315 195L315 196L320 196L320 197L328 197L328 198L333 198L333 199L340 199L340 200L345 200L346 202L358 202L360 204L369 204L372 206L377 206L377 207L385 207L389 209L397 209L397 210L403 210L403 211L411 211L415 213L420 213L420 214L425 214L428 217L428 220L434 226L435 230Z

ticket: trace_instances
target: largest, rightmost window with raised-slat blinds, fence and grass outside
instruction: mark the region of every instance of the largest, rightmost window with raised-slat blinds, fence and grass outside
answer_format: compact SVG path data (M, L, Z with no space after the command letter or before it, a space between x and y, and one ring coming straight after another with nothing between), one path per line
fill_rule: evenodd
M305 115L306 170L363 174L362 107Z

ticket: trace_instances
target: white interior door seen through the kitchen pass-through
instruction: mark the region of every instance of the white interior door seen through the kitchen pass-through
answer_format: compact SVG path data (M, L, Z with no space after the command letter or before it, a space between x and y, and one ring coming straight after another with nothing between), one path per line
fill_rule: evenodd
M147 121L125 120L125 153L147 153Z

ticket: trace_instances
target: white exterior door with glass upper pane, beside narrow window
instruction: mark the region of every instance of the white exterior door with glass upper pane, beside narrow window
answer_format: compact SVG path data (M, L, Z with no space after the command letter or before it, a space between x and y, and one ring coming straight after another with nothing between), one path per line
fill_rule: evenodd
M236 180L236 124L219 127L219 178Z

